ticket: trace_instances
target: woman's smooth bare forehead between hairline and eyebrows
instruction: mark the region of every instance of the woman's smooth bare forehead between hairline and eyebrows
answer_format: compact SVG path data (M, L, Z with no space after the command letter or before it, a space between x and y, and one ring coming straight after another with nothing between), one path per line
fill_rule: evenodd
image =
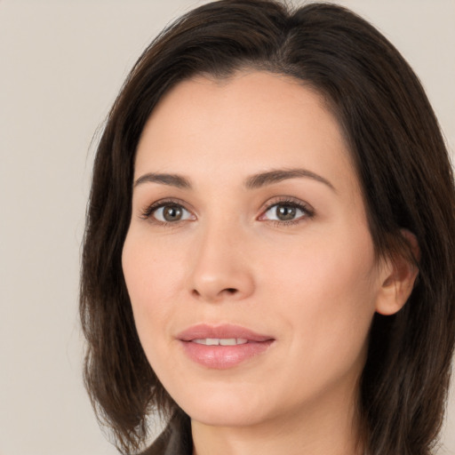
M355 180L350 161L321 95L290 76L239 72L223 80L197 76L164 95L142 132L135 177L303 166Z

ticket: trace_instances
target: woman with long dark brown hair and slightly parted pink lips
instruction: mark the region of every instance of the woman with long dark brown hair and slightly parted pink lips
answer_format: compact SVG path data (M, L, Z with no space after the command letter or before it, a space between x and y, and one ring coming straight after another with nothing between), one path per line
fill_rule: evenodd
M384 36L330 4L205 4L100 140L81 316L124 453L427 455L454 344L455 195Z

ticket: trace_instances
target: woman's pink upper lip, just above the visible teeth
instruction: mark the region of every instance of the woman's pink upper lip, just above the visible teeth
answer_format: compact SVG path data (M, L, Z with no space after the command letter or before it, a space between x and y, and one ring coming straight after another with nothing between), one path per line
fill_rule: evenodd
M224 323L220 325L210 325L206 323L199 323L188 327L184 331L180 331L177 335L178 339L182 341L191 341L192 339L233 339L241 338L248 339L249 341L267 341L273 339L269 335L264 335L246 329L241 325Z

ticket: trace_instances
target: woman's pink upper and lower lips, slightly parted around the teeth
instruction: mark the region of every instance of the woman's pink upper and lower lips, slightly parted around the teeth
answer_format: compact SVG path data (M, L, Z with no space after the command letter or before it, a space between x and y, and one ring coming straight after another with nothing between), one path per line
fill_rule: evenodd
M193 362L207 368L225 370L263 354L275 339L234 324L196 324L177 337L185 355ZM234 346L210 346L194 342L196 339L246 339L244 344Z

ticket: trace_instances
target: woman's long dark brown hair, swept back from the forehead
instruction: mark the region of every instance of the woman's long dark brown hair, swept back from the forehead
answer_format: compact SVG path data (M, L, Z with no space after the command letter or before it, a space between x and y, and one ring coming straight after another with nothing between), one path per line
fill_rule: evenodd
M396 315L375 315L359 412L371 455L427 455L439 433L455 335L455 194L451 164L417 76L395 47L333 4L295 11L221 0L177 20L132 68L95 158L82 263L84 378L120 450L138 450L148 411L180 411L144 355L121 256L135 150L164 92L198 74L245 68L295 77L327 100L347 138L379 255L419 242L419 280Z

